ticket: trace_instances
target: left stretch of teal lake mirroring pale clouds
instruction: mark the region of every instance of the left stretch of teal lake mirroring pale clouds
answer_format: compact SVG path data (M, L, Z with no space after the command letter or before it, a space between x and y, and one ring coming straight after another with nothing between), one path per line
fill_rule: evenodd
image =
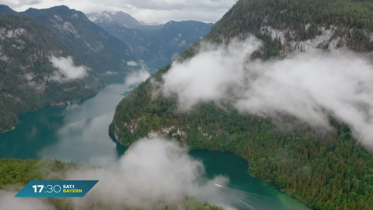
M125 148L110 140L107 129L124 97L121 94L128 91L124 85L113 84L81 104L21 115L15 130L0 134L1 156L112 163Z

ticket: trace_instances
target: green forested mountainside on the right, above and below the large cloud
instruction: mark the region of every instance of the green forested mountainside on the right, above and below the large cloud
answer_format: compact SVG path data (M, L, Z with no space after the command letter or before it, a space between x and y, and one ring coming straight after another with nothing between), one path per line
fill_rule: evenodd
M373 2L364 0L239 0L207 37L221 41L254 33L264 41L262 53L256 54L263 59L320 37L316 46L310 46L370 51L372 8ZM264 27L284 37L266 33ZM330 37L322 35L332 27ZM195 47L198 44L182 56L193 56ZM169 68L153 78L160 81ZM316 209L373 209L373 153L352 138L348 126L331 119L334 133L320 135L305 124L283 132L270 118L238 114L235 109L226 112L213 102L180 114L175 99L152 100L151 90L148 79L117 106L109 131L123 145L151 132L163 133L191 149L235 152L248 160L252 175L272 181Z

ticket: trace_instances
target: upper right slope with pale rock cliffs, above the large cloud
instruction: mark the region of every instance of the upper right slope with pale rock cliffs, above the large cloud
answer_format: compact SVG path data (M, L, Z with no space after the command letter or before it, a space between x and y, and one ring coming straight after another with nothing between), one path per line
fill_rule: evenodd
M282 0L271 5L268 2L272 1L238 1L216 22L209 38L217 40L219 35L247 33L250 28L251 33L266 41L265 58L293 49L348 46L360 52L373 50L370 1L333 0L314 4ZM265 35L272 39L267 40Z

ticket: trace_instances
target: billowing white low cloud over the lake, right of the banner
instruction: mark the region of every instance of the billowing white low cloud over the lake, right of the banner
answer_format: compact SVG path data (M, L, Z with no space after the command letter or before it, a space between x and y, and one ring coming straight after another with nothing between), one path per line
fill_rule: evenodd
M117 204L117 209L154 209L160 201L178 204L184 195L219 198L214 183L228 183L222 176L207 179L203 163L189 156L187 148L160 138L136 141L114 166L66 175L68 180L100 180L83 198L73 199L78 209L100 201Z

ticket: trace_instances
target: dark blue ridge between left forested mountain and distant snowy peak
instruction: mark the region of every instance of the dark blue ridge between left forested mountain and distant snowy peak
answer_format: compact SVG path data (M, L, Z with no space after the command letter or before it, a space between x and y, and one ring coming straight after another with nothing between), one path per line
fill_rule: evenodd
M4 7L6 6L1 8ZM0 9L0 12L14 13L9 9ZM89 21L84 13L69 9L67 6L48 9L30 8L18 14L30 16L46 24L67 47L75 52L76 57L94 72L126 72L129 68L127 61L136 59L128 46L119 38Z

